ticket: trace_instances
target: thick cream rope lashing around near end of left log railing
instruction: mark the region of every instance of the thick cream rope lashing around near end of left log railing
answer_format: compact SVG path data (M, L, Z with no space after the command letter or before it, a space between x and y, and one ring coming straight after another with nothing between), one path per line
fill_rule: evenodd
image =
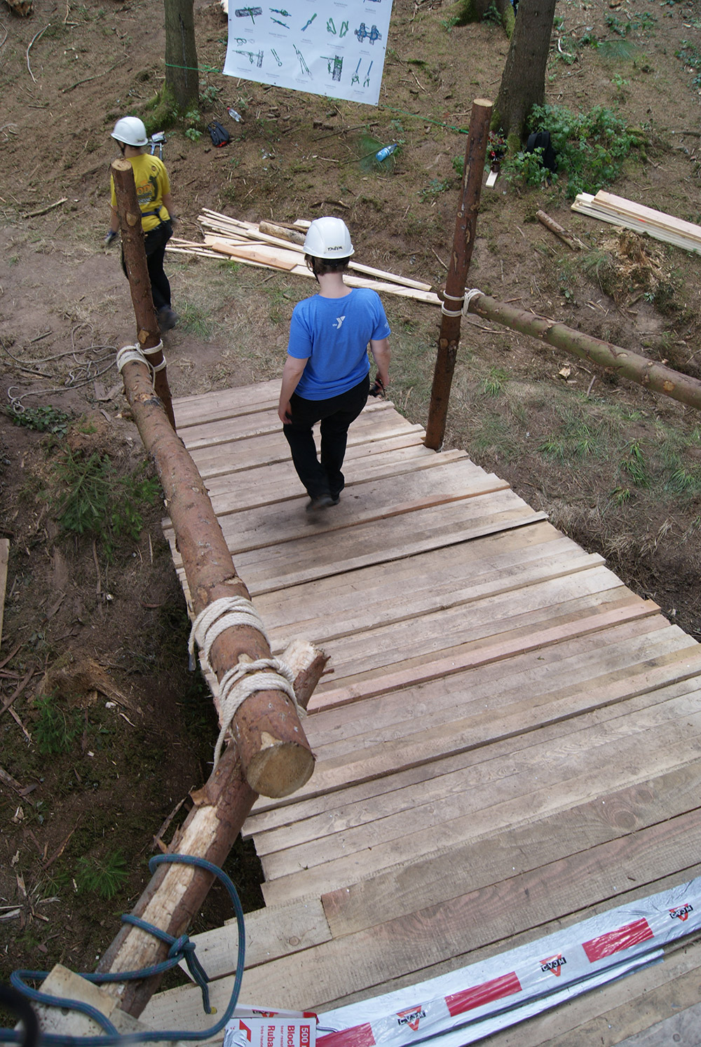
M191 668L194 667L195 641L197 641L202 661L214 676L210 665L212 645L225 629L236 625L246 625L248 628L257 629L264 637L268 647L270 646L263 620L250 600L242 596L222 597L209 604L193 622L189 643ZM226 732L231 729L236 713L246 698L256 691L282 691L291 700L298 715L306 715L304 709L298 705L292 687L293 680L294 674L289 666L277 658L239 662L224 673L217 685L221 730L214 750L214 768L219 762Z

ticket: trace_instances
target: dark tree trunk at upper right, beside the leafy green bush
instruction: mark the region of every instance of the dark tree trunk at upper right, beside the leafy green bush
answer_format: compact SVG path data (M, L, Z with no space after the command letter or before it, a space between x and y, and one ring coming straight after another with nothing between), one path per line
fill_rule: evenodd
M533 106L545 99L545 68L556 0L521 0L491 127L517 149ZM509 146L512 144L509 142Z

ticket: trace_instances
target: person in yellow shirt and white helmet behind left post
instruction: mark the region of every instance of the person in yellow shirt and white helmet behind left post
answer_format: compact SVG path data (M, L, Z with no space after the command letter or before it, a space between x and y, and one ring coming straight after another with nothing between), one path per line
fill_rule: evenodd
M149 139L144 122L138 116L123 116L122 119L118 119L114 125L111 137L114 138L122 155L129 160L134 172L136 199L141 208L141 227L144 229L146 261L151 280L151 292L158 316L158 327L163 333L174 328L178 321L178 315L171 305L171 285L163 269L166 244L173 236L173 222L177 220L173 214L171 182L162 160L146 153ZM111 176L110 204L110 227L105 237L106 246L112 243L119 229L114 179ZM122 254L122 268L126 276L124 252Z

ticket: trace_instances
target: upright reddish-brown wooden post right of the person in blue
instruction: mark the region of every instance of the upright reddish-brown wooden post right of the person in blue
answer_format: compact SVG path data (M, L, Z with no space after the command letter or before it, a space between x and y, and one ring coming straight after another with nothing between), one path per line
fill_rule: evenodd
M465 295L467 269L475 246L477 214L480 207L484 158L487 152L491 103L476 98L469 118L469 134L465 148L465 170L462 177L462 199L455 220L453 253L445 280L445 300L441 312L438 354L431 388L431 404L425 447L439 450L445 436L447 403L455 370L455 358L460 343L460 318Z

